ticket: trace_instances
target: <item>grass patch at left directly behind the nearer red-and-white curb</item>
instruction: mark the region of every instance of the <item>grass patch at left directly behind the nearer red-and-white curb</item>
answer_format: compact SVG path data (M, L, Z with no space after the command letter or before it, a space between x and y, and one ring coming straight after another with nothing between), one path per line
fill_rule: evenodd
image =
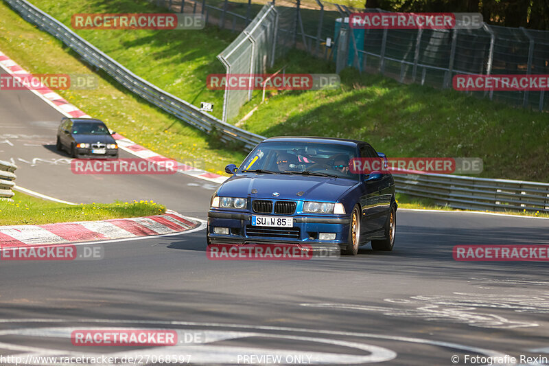
M15 192L13 202L0 200L1 225L43 225L53 222L107 220L161 215L166 208L153 201L66 205Z

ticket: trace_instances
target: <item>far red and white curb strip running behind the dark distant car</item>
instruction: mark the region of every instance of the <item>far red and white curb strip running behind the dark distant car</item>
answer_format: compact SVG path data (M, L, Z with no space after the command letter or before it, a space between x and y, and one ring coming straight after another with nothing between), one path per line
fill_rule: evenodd
M9 58L2 52L0 52L0 67L3 68L6 72L10 73L12 76L17 76L17 74L30 75L30 72L26 71L21 66L17 65L17 63L14 60ZM66 117L69 117L69 118L74 118L74 117L91 118L89 115L82 112L80 108L67 102L67 100L62 98L55 91L52 91L51 89L45 87L36 79L34 81L36 81L36 84L40 84L41 87L38 87L36 89L32 89L32 88L27 88L27 89L32 91L32 93L38 95L39 98L42 98L47 104L49 104L50 106L55 108L57 111L62 113L62 115L65 115ZM132 140L127 139L126 137L119 135L118 133L113 135L113 137L117 140L117 144L119 148L121 148L122 150L126 150L130 154L135 155L136 157L139 157L141 159L152 161L157 165L161 165L160 163L162 161L172 160L152 150L149 150L148 148L135 144L135 142L133 142ZM161 165L161 166L163 167L163 169L166 168L165 165ZM223 183L227 179L226 176L207 172L206 170L195 169L192 166L185 165L183 163L177 163L172 170L176 170L176 172L180 172L190 176L195 176L196 178L205 179L206 181L211 181L219 184Z

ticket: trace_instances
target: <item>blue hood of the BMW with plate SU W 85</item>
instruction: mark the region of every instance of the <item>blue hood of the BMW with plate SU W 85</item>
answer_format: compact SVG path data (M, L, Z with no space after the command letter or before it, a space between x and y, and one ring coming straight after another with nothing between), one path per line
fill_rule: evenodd
M303 201L331 201L347 192L358 181L299 174L245 173L231 176L218 189L218 196L287 199ZM252 193L254 191L255 193ZM278 192L278 196L273 196ZM303 194L298 195L299 192Z

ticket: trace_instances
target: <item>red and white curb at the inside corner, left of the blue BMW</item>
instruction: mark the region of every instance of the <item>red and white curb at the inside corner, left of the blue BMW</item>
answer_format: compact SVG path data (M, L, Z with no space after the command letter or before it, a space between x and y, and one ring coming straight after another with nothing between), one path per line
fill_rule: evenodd
M139 218L0 226L0 249L170 235L194 231L202 226L203 220L188 218L171 210L166 210L163 215Z

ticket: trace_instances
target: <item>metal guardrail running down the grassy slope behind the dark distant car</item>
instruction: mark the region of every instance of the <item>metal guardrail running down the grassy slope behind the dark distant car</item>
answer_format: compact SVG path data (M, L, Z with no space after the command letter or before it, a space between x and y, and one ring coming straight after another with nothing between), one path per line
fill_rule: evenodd
M110 58L99 49L84 40L84 38L75 34L67 26L49 14L36 8L36 6L25 0L4 0L12 9L21 14L23 19L37 25L41 30L48 32L58 40L71 47L74 52L82 56L86 62L97 69L105 71L110 77L114 78L126 89L139 95L141 98L163 109L167 113L183 120L187 124L194 126L207 134L218 133L220 140L224 142L240 141L244 148L251 149L265 137L242 130L231 124L222 122L210 115L200 111L200 108L193 106L175 97L174 95L163 91L150 82L139 78L126 67Z

